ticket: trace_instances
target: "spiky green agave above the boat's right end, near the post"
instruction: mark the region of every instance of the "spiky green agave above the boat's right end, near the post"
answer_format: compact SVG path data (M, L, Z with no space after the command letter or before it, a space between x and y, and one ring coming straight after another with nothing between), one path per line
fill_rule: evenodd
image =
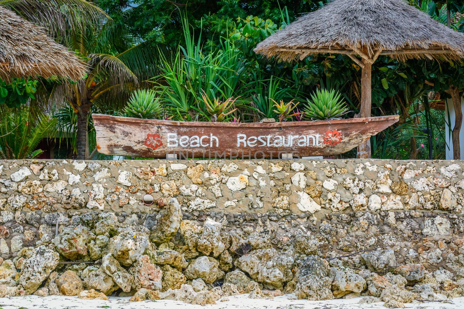
M308 99L304 109L305 117L312 120L329 120L340 118L348 113L346 103L341 100L341 94L335 90L317 89Z

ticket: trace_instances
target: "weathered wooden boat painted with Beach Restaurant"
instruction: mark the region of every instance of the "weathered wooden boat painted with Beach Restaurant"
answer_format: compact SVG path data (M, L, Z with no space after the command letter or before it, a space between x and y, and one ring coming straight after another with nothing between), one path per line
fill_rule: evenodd
M398 121L398 115L301 122L180 122L92 114L97 150L143 158L278 158L349 151Z

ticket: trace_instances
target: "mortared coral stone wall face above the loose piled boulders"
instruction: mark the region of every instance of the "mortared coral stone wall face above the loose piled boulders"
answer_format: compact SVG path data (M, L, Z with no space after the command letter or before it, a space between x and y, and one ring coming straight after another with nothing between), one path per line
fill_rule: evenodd
M0 161L0 253L83 212L151 229L175 198L182 220L265 231L277 247L313 234L327 254L395 245L399 262L438 266L463 251L463 172L460 161Z

